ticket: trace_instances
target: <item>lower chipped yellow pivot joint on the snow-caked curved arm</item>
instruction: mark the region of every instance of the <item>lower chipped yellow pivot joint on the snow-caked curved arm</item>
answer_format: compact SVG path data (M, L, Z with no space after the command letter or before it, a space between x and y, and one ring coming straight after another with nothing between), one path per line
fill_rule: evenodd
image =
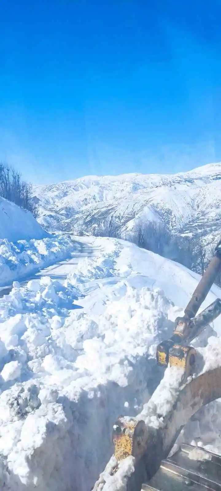
M130 455L138 457L143 453L147 438L147 428L143 420L120 417L113 425L114 456L117 461Z

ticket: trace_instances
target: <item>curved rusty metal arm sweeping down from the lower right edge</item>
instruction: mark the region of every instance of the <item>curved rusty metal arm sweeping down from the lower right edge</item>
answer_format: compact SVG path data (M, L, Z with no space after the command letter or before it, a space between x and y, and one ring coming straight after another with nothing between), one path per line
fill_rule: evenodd
M121 473L121 482L124 483L120 488L121 491L140 491L142 484L148 482L157 472L161 461L166 459L172 449L177 436L193 416L193 414L206 404L221 397L221 367L215 368L203 373L189 382L177 394L173 408L168 411L164 417L162 428L154 429L146 426L145 446L142 448L142 454L139 452L138 457L134 457L134 471L131 469L131 461L128 466L125 461L124 473ZM109 464L106 468L106 475L109 473L109 479L106 486L106 479L95 483L92 488L95 490L119 490L119 481L116 479L118 464L115 460L115 468Z

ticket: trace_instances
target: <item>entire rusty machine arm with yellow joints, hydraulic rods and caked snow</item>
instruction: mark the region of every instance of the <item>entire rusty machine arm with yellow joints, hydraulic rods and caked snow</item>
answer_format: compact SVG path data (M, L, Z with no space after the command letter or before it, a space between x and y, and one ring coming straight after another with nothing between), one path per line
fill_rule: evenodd
M221 300L217 299L195 316L220 270L221 241L185 309L184 317L176 319L171 339L157 347L158 364L168 365L162 381L138 416L121 416L113 425L114 455L92 488L94 491L170 491L190 486L194 491L221 490L220 457L202 451L205 460L210 462L204 473L191 461L191 457L185 464L186 454L192 455L191 446L181 446L172 458L167 459L190 417L221 397L221 366L199 375L195 368L196 350L185 346L221 314ZM190 375L195 378L190 378ZM160 413L162 406L159 402L164 398L162 394L171 395L165 401L163 414Z

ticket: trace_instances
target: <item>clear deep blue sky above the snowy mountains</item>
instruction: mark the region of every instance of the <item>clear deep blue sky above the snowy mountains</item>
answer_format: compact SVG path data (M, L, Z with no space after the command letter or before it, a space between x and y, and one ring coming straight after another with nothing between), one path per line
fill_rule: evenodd
M221 161L220 0L1 0L0 160L34 183Z

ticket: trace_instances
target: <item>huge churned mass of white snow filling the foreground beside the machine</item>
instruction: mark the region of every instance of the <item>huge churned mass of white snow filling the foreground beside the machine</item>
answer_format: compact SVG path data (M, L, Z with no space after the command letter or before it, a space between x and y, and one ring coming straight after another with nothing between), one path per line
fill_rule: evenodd
M78 264L72 256L25 285L14 282L0 299L0 489L93 486L112 454L115 418L140 413L160 382L156 346L199 280L124 241L81 241L90 254L81 259L78 251ZM213 286L202 308L220 295ZM218 355L213 341L206 347L217 334L219 320L195 341L207 350L206 363ZM163 399L155 404L163 414ZM154 426L154 408L152 416ZM201 424L211 429L209 416L203 413ZM217 412L207 443L216 436L221 448L220 422ZM133 470L132 461L125 465L122 482Z

